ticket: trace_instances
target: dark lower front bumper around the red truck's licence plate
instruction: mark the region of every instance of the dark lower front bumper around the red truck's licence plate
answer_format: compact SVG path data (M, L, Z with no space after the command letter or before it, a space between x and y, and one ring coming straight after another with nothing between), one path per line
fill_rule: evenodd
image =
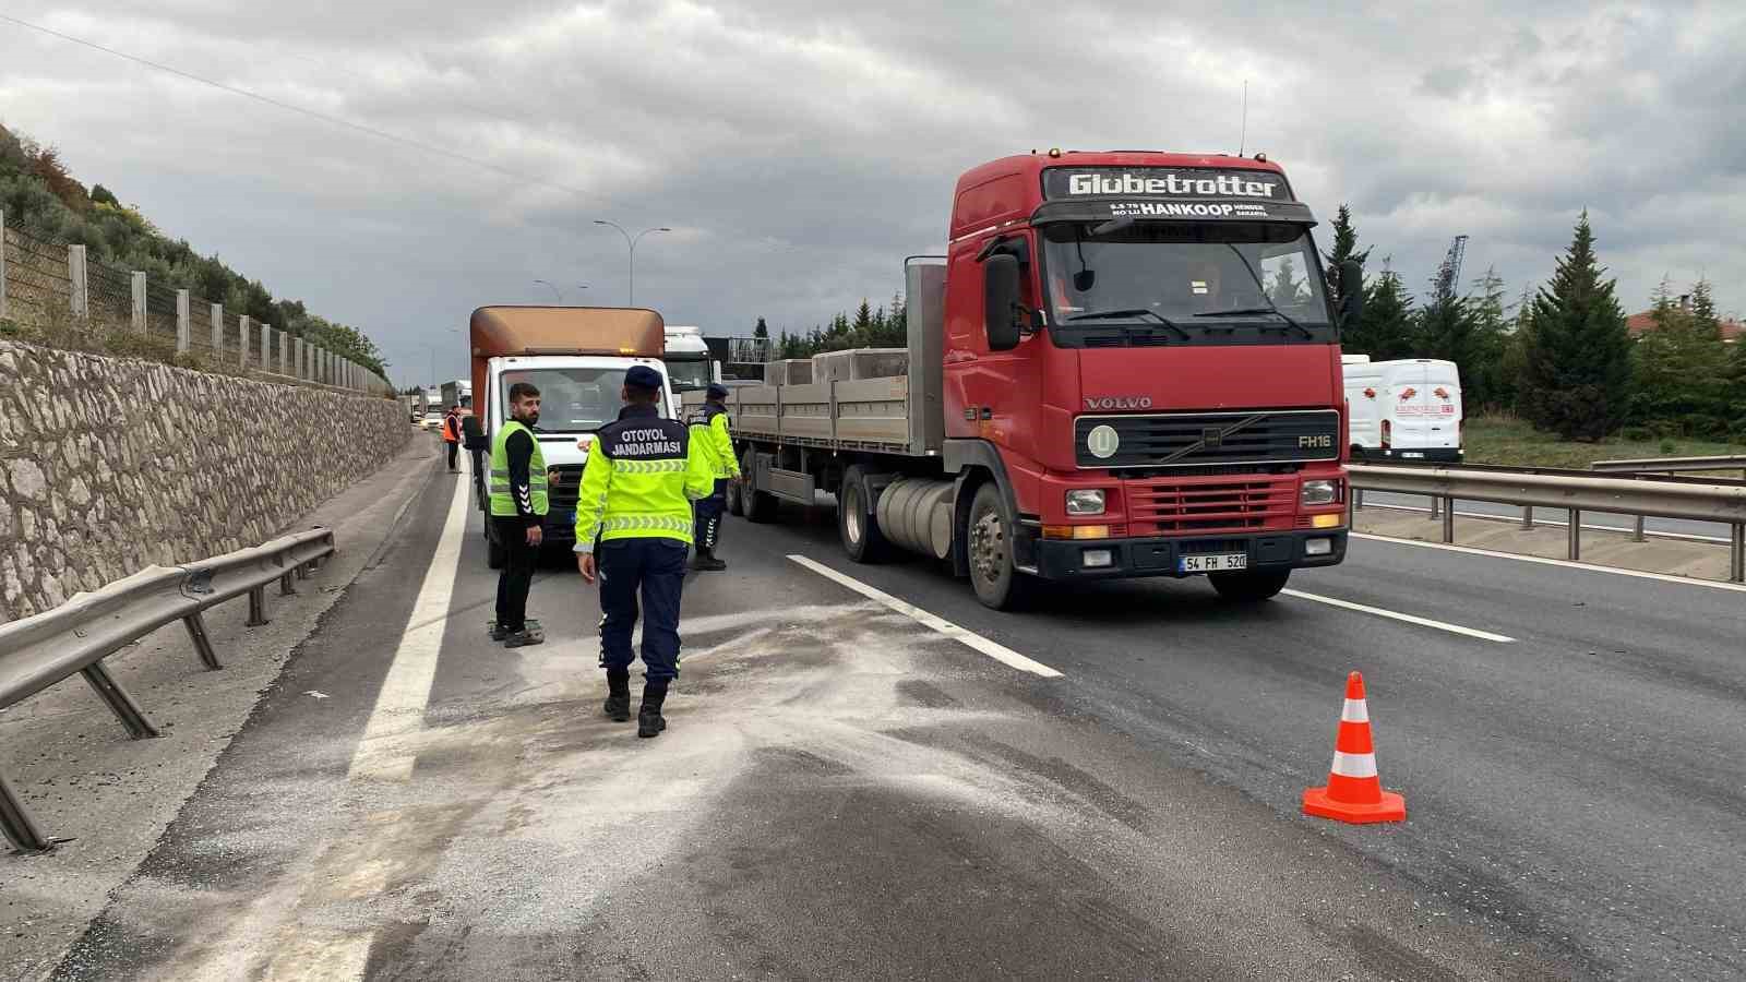
M1032 540L1032 557L1037 575L1044 580L1121 580L1133 577L1198 577L1182 573L1180 557L1194 552L1243 552L1248 570L1297 570L1310 566L1336 566L1346 559L1344 528L1268 531L1257 535L1217 535L1180 538L1084 538ZM1310 556L1304 543L1311 538L1330 540L1325 556ZM1109 566L1088 568L1088 550L1110 552Z

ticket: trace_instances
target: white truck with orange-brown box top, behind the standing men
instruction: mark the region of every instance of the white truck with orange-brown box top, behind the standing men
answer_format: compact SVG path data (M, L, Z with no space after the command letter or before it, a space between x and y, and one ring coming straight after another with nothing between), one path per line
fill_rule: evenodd
M627 308L515 308L473 311L468 328L473 351L470 390L478 400L463 421L473 456L473 505L489 519L485 475L491 437L510 418L510 386L540 390L534 439L546 461L545 542L569 549L576 542L576 491L594 433L618 419L625 372L648 365L662 374L662 411L670 412L672 386L662 363L663 325L658 313ZM485 521L485 559L492 570L506 559Z

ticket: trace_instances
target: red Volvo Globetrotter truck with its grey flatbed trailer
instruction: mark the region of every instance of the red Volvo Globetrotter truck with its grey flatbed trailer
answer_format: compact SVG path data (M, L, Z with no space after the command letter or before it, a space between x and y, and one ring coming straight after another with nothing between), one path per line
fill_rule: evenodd
M1339 323L1358 311L1330 306L1313 225L1259 154L983 164L946 255L904 262L906 358L733 390L728 507L773 521L829 491L852 559L934 556L997 610L1117 577L1271 598L1346 554Z

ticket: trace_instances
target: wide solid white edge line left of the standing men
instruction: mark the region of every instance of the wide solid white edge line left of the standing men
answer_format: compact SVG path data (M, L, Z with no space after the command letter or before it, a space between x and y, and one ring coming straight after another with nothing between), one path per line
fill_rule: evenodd
M412 757L396 750L396 744L424 727L424 706L430 704L431 683L436 680L436 655L449 627L449 598L454 594L461 542L466 538L468 494L457 484L452 488L442 538L424 571L407 629L400 634L395 660L388 666L388 678L375 697L375 709L358 739L349 779L407 781L412 776Z

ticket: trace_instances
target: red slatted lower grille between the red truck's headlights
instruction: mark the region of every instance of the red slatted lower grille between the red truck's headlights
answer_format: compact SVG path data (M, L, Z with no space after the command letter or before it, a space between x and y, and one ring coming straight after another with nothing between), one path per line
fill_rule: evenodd
M1131 535L1289 529L1296 477L1128 481Z

